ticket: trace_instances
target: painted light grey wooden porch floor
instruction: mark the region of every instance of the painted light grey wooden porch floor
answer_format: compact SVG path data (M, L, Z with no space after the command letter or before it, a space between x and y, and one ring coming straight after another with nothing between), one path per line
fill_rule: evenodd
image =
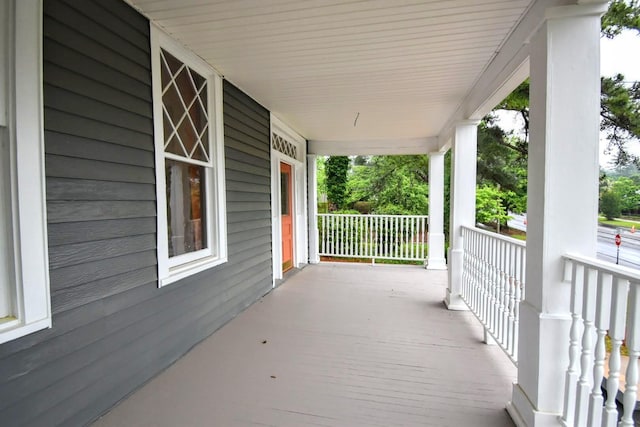
M516 376L446 272L309 266L95 427L512 426Z

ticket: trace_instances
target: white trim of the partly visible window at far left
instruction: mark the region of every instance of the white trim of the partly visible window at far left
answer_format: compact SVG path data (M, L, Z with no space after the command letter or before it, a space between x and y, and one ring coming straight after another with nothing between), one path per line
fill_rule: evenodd
M0 131L10 140L12 286L15 320L0 324L0 344L51 327L44 172L42 1L0 4ZM15 55L14 52L19 52ZM3 177L4 178L4 177Z

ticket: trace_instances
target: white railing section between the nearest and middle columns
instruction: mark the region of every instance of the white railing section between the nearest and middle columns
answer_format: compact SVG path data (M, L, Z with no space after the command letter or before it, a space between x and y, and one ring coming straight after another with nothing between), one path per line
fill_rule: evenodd
M486 334L516 363L526 245L469 227L462 227L462 239L462 299L482 323Z

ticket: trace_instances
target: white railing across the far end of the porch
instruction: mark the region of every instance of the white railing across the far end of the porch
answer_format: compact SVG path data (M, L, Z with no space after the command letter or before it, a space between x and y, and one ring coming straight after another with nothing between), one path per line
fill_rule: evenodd
M318 214L321 256L424 261L427 216Z

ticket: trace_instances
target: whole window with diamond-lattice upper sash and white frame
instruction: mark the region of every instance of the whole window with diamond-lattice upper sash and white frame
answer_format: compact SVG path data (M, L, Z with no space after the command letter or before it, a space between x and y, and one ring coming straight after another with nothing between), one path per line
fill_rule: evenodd
M152 44L162 285L226 261L222 83L159 30Z

